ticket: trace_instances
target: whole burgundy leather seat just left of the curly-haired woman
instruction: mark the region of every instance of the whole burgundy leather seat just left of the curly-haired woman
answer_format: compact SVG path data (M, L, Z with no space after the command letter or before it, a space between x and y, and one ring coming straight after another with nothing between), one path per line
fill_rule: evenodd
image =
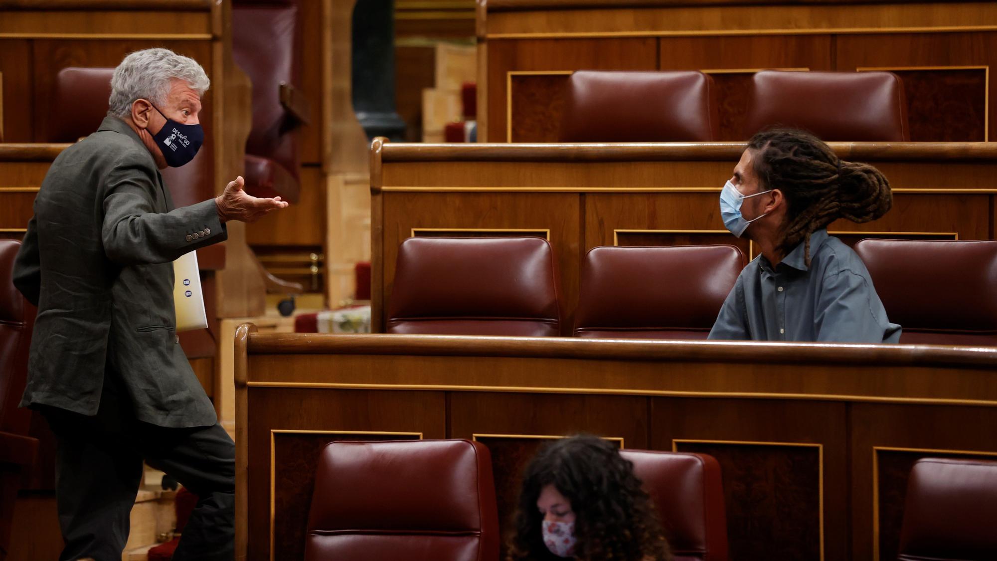
M468 440L332 442L305 540L305 561L497 561L492 455Z

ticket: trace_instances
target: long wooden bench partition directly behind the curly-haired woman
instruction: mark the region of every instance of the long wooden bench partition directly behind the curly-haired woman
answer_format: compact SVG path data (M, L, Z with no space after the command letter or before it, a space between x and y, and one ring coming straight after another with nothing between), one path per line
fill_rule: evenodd
M308 496L310 450L336 431L481 440L505 503L517 469L549 437L588 431L625 448L711 453L724 469L733 559L873 559L873 504L876 543L891 551L913 460L997 451L997 348L250 335L246 326L236 360L236 543L248 559L267 558L270 519L273 547L298 547L283 540L297 539L300 516L268 518L270 496ZM320 432L288 440L308 450L292 458L272 432L286 428Z

